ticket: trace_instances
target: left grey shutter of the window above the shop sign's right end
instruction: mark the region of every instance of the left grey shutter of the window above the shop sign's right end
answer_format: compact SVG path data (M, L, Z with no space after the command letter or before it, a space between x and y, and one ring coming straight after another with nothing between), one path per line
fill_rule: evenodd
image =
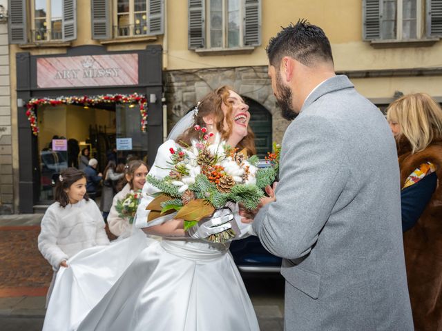
M111 38L111 1L92 0L92 39Z

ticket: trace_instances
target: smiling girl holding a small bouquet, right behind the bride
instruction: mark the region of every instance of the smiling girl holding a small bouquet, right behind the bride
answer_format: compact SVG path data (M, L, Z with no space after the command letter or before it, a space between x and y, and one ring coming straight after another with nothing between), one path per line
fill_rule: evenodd
M132 224L128 222L128 219L119 217L115 206L117 202L124 199L127 194L143 189L144 183L146 183L147 172L146 163L140 160L130 161L126 167L124 167L124 179L121 183L124 187L113 197L111 210L107 219L109 230L119 238L127 238L131 235Z

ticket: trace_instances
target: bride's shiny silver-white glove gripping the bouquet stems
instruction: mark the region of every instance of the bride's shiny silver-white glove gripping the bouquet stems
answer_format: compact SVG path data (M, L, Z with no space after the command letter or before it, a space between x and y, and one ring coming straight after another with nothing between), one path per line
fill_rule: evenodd
M211 217L205 217L186 231L186 237L192 239L204 239L211 234L229 230L232 225L227 223L233 219L233 213L229 208L217 209Z

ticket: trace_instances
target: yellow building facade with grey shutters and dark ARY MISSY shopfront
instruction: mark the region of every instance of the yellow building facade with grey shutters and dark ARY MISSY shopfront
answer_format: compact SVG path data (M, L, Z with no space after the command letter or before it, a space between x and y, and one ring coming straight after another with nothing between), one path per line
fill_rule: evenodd
M133 138L129 151L152 163L173 124L222 85L249 103L265 154L289 124L265 46L302 18L325 30L336 72L381 110L409 92L442 101L442 0L9 0L15 211L50 200L51 176L68 156L49 143L75 139L105 159L117 139ZM143 120L142 104L115 101L134 93L147 103L146 134L127 129ZM106 94L111 100L88 99Z

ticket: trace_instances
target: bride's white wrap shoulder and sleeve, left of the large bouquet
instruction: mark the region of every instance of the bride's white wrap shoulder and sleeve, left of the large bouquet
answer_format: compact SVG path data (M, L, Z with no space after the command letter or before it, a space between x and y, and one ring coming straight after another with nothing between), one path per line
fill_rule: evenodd
M169 151L170 148L177 148L175 141L168 140L163 143L160 148L158 148L157 157L155 158L155 162L152 165L149 175L156 178L164 178L169 174L169 168L171 168L171 165L169 164L171 162L171 152ZM165 221L173 219L173 217L175 216L175 214L169 214L164 217L155 219L155 223L147 223L149 211L146 210L146 207L154 199L152 197L152 194L155 194L157 192L160 192L160 190L155 188L153 185L147 182L144 184L142 190L142 198L137 208L137 214L135 215L135 226L137 228L147 228L148 226L161 224Z

